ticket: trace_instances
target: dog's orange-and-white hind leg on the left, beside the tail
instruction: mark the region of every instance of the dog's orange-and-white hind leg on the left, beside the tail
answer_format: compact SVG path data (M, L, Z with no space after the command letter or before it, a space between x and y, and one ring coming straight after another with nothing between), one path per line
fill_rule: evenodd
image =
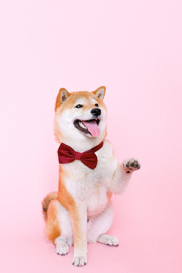
M49 204L45 233L47 238L55 244L57 254L68 253L68 245L73 243L70 214L57 199Z

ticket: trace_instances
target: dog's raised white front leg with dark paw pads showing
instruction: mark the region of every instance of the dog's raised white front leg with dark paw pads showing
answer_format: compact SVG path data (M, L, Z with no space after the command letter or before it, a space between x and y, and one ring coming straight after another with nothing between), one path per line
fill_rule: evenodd
M115 170L114 177L109 186L110 191L115 194L123 193L127 188L131 174L139 168L140 163L136 158L130 158L123 161Z

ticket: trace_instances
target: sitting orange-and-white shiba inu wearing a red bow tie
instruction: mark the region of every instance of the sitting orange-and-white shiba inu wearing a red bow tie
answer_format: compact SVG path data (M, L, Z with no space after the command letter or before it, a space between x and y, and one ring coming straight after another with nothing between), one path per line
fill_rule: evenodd
M76 266L87 263L87 242L119 245L117 237L105 234L114 216L111 195L123 193L140 168L135 158L119 165L105 140L105 89L68 93L61 88L55 104L59 186L42 202L45 233L57 254L67 254L74 245Z

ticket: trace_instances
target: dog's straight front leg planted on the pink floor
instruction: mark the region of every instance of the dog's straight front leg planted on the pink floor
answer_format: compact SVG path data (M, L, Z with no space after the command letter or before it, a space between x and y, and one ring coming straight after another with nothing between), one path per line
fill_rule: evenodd
M84 204L75 204L70 208L70 216L74 232L74 255L72 264L83 266L87 264L87 210Z

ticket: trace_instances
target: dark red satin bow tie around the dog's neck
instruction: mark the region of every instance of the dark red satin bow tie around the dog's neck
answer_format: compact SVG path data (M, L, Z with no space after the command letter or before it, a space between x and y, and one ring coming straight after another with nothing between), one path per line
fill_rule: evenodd
M103 141L92 148L91 150L85 151L83 153L75 152L70 146L61 143L58 149L58 158L59 163L70 163L75 159L81 160L83 164L87 167L94 169L97 165L97 156L95 152L97 152L103 146Z

